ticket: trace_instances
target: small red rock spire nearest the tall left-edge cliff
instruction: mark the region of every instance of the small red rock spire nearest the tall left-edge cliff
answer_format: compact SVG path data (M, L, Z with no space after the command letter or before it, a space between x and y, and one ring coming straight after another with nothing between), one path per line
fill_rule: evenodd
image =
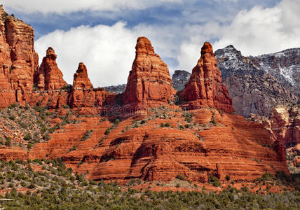
M39 90L57 90L67 85L62 78L62 71L57 67L53 48L48 48L36 77Z

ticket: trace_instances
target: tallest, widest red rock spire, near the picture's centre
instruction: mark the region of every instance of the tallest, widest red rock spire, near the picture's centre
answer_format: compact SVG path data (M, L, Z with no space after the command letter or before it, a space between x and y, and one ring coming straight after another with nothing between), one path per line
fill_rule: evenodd
M148 38L137 38L135 49L123 103L131 105L132 109L168 103L175 94L168 66L154 52Z

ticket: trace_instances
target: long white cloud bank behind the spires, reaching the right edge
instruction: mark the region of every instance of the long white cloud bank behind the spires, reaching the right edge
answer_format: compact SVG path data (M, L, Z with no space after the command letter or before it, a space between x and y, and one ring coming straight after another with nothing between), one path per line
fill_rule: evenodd
M95 86L126 83L135 57L138 36L151 40L156 53L174 69L191 71L200 57L200 48L211 41L214 50L234 45L243 55L261 55L300 47L300 1L282 0L272 8L255 6L241 10L229 24L149 25L128 28L125 22L113 26L81 26L53 31L36 41L42 58L48 46L57 53L57 63L68 83L79 62L88 67ZM173 60L175 62L170 62Z

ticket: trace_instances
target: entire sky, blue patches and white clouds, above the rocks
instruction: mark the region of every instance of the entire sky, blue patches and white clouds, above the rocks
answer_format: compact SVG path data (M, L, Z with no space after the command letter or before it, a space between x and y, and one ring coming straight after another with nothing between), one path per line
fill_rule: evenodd
M34 27L40 59L55 49L68 83L79 62L94 86L126 83L138 36L151 40L171 74L191 71L205 41L214 50L233 44L243 55L300 47L298 0L1 2Z

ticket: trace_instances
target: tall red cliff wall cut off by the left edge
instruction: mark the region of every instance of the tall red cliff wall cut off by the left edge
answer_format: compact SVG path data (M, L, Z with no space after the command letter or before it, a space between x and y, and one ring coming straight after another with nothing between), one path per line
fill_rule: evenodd
M13 102L25 104L34 85L39 56L34 51L34 29L8 15L0 6L0 106Z

